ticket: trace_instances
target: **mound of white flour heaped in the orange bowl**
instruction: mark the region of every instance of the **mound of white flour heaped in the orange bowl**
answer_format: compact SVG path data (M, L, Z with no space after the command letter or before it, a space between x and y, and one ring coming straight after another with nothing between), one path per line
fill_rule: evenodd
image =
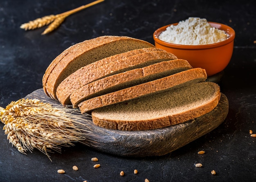
M168 26L158 38L173 44L204 45L217 43L228 37L225 31L212 27L206 19L191 17L176 26Z

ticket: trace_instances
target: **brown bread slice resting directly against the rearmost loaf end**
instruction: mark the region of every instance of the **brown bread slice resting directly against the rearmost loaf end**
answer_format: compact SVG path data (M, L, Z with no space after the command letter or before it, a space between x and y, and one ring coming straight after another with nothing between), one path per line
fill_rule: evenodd
M169 61L177 57L166 51L152 51L118 59L97 69L80 68L65 80L57 88L57 98L63 105L71 104L70 95L82 86L98 79L115 75L135 68L143 68L157 62ZM88 65L89 66L89 65ZM89 71L88 71L89 70Z

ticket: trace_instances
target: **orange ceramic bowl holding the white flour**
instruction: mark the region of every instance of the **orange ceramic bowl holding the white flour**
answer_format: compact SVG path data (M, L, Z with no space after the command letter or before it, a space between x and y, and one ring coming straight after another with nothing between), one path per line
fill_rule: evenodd
M155 46L173 53L179 59L187 60L193 68L204 68L208 76L215 75L229 64L234 48L235 31L225 24L215 22L209 22L209 24L228 33L229 38L222 42L206 45L172 44L158 39L159 34L171 25L169 24L154 32Z

